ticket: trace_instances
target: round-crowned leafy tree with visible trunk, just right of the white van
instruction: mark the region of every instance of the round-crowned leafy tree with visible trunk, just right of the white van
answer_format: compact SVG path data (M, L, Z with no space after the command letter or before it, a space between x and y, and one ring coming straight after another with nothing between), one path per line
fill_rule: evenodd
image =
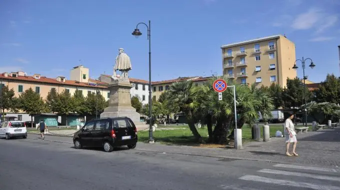
M46 111L47 106L40 94L29 88L19 95L19 108L28 113L31 116L31 121L33 121L33 115Z

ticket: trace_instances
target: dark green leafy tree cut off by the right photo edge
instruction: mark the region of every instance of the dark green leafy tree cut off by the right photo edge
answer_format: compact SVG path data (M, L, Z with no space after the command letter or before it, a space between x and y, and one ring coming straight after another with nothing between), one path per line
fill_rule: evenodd
M321 82L316 91L317 102L340 103L340 79L334 74L327 74L326 79Z

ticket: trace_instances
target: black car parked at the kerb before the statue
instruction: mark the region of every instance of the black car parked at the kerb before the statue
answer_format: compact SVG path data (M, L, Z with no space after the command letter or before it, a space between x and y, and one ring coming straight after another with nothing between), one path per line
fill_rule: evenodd
M74 147L103 147L106 152L114 146L135 148L137 128L128 117L105 117L87 121L73 136Z

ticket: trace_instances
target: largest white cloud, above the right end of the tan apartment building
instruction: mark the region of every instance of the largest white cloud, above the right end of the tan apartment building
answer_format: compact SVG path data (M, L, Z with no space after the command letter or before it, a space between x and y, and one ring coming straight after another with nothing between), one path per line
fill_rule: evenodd
M310 8L307 12L297 15L291 27L294 29L309 29L321 19L321 16L319 9Z

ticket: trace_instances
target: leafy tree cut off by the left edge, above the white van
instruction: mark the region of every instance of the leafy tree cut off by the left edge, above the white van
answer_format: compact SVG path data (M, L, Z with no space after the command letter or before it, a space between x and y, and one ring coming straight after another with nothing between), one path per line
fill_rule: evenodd
M2 113L4 110L10 110L12 112L17 112L18 99L15 97L13 88L9 89L8 86L0 86L0 101L2 101Z

